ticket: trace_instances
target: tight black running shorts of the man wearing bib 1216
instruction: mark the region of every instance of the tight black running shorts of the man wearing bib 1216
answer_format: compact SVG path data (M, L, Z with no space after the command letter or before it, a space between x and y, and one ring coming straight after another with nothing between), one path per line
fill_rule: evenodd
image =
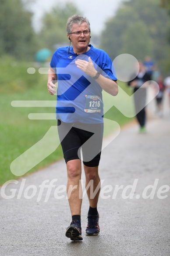
M85 166L99 166L103 141L103 123L64 123L57 120L57 127L66 163L73 159L81 159L82 156Z

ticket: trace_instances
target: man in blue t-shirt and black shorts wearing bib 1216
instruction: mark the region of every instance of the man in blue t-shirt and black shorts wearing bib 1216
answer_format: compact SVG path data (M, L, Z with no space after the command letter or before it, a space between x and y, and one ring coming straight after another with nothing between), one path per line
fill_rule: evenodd
M117 78L110 57L90 43L90 23L87 18L73 15L67 21L69 47L58 48L51 59L48 91L57 88L57 127L67 166L67 197L72 221L66 230L71 241L81 241L81 157L85 171L85 187L91 182L94 198L89 198L86 235L99 234L97 203L100 191L98 166L103 140L102 90L116 96ZM58 82L58 87L55 83ZM72 189L71 189L72 188Z

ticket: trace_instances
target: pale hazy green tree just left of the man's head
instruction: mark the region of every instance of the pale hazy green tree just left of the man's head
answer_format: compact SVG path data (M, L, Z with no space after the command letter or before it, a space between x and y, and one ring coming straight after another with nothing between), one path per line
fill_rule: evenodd
M58 4L52 11L45 13L42 19L43 27L39 33L39 38L43 46L51 50L56 48L56 44L68 43L66 23L67 19L74 14L81 15L77 7L72 3L66 3L64 6Z

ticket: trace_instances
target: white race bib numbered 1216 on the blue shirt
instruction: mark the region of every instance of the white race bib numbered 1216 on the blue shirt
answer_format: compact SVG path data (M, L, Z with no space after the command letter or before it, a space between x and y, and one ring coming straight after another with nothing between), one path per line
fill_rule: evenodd
M103 102L99 96L96 95L85 95L85 112L96 113L101 112L103 108Z

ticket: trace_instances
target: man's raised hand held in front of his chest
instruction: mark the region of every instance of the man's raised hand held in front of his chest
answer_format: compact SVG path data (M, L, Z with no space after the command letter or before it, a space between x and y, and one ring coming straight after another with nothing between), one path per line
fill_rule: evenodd
M91 58L88 58L88 61L84 61L84 60L76 60L75 64L77 65L78 69L81 69L83 72L85 72L85 74L89 75L89 76L96 76L96 69L94 68L94 65L92 63Z

